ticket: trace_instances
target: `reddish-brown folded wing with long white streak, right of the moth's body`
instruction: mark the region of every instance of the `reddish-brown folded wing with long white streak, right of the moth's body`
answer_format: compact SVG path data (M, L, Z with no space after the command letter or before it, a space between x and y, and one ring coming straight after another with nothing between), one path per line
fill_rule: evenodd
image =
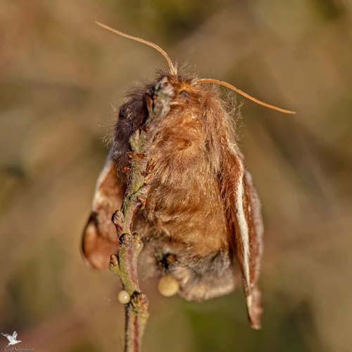
M225 149L221 168L220 183L227 211L230 245L241 269L251 326L259 329L262 308L258 277L263 251L260 201L235 144L229 144Z

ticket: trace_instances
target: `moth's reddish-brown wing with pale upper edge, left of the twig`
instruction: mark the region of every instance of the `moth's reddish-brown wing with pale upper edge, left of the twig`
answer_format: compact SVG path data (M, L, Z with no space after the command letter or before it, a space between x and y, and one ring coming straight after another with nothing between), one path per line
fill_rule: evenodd
M118 237L111 217L120 209L125 186L118 179L112 151L96 182L89 216L82 236L82 253L94 269L107 269L111 254L118 251Z

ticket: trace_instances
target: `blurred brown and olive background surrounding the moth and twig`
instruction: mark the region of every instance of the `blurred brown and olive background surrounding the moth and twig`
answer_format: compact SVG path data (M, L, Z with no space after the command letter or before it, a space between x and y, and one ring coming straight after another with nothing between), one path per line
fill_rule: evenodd
M118 279L84 265L80 234L113 109L166 65L94 20L298 111L224 91L244 103L240 144L263 202L263 329L241 290L189 303L149 282L144 351L351 351L351 0L2 0L0 331L36 352L122 351Z

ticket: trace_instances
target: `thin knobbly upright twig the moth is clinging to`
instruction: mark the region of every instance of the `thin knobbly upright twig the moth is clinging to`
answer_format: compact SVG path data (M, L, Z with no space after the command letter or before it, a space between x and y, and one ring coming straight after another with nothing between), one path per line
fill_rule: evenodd
M125 352L141 351L141 343L146 320L148 300L142 294L137 276L137 258L142 251L142 239L132 232L132 222L139 207L144 207L149 185L146 175L149 165L148 152L156 134L159 122L170 111L169 102L174 94L168 78L164 77L147 94L149 116L142 127L130 137L130 172L121 210L113 215L113 223L118 232L120 248L118 256L111 256L110 270L118 275L122 287L131 300L125 304Z

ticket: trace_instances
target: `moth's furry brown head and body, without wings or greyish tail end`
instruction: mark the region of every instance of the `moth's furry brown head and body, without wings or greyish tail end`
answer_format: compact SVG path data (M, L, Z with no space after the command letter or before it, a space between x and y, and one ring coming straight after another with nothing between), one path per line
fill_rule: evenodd
M189 79L169 77L169 82L174 88L170 112L158 125L148 151L150 191L144 214L158 230L189 244L195 253L227 250L225 205L218 180L220 142L229 129L226 112L216 89L201 88ZM148 115L153 87L150 84L132 94L120 109L114 136L120 175L130 163L128 141Z

